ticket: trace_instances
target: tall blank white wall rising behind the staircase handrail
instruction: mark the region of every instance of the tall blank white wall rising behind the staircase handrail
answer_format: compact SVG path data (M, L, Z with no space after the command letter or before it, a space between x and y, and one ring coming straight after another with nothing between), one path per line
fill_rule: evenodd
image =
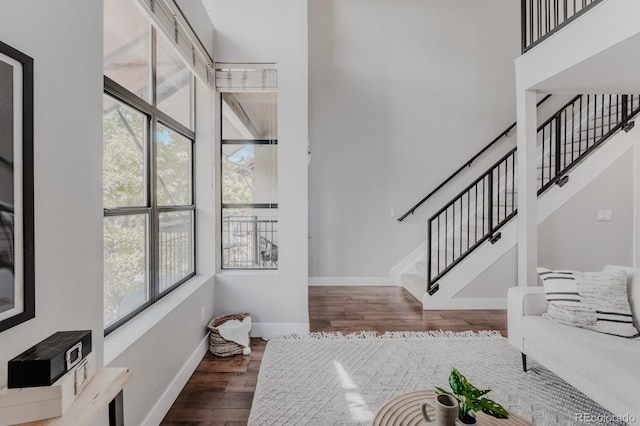
M511 0L309 1L310 276L386 277L424 242L424 208L397 217L515 121L519 16Z

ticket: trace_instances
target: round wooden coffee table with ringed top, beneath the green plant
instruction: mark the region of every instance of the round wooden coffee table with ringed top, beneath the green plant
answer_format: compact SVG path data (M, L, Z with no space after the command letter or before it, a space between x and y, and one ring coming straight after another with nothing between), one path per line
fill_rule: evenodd
M427 400L435 400L436 393L432 390L422 390L405 393L403 395L396 396L388 401L380 408L375 419L373 419L373 426L418 426L426 424L422 419L422 404ZM433 407L427 407L427 413L433 420L435 418L436 410ZM496 419L483 412L477 412L478 426L532 426L533 423L529 423L521 417L515 414L509 414L508 419Z

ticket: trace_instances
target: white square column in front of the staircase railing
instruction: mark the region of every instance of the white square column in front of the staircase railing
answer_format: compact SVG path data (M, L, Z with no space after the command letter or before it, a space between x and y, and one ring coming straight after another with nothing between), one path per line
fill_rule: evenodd
M536 93L518 90L518 285L537 284Z

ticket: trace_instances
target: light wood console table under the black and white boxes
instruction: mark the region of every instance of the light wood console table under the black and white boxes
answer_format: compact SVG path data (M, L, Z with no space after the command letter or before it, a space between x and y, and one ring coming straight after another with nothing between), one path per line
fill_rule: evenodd
M129 380L131 380L131 376L131 371L126 368L100 368L63 416L38 420L37 422L22 423L22 425L88 425L91 420L108 405L109 425L123 426L122 390Z

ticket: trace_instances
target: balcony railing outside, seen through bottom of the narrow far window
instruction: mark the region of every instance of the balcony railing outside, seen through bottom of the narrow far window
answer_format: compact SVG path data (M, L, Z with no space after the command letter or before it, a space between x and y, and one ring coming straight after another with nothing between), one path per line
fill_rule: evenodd
M278 269L278 221L257 216L222 219L223 269Z

